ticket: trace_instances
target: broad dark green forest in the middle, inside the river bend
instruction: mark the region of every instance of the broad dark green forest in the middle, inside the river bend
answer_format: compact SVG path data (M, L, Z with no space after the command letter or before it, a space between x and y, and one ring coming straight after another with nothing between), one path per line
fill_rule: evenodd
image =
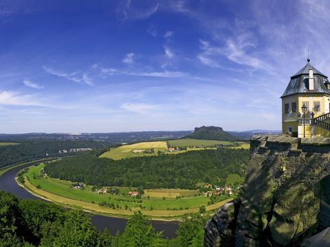
M113 161L88 152L45 166L48 176L98 186L195 189L199 182L224 185L228 174L244 176L248 150L220 148Z

